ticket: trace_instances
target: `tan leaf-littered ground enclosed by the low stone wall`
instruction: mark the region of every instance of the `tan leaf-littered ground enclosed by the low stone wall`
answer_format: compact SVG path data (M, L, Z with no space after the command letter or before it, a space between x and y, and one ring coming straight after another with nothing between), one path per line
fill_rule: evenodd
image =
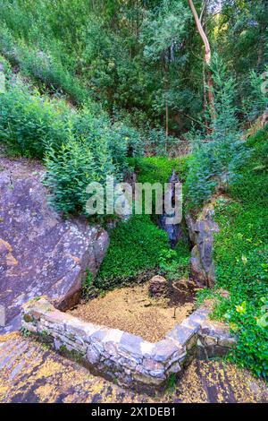
M175 324L194 310L193 297L176 307L170 298L152 298L148 283L117 288L88 303L80 304L68 313L86 322L128 331L150 342L163 339Z

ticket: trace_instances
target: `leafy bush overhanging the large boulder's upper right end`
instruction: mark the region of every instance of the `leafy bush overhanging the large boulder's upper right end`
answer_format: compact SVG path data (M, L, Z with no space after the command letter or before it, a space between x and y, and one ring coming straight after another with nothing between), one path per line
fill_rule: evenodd
M98 139L90 144L84 139L70 138L57 150L46 151L46 185L52 191L51 202L64 214L86 214L89 183L105 183L113 174L113 163L106 142ZM99 153L97 153L99 152Z

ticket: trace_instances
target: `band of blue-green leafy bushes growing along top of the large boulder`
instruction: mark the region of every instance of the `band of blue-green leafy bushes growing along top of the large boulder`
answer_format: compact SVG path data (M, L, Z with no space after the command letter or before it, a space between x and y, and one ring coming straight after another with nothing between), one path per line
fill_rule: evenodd
M51 201L65 215L85 214L87 185L104 184L109 175L121 180L130 150L142 153L130 126L112 125L104 113L96 117L86 107L78 112L19 80L1 94L0 116L1 141L10 153L45 158Z

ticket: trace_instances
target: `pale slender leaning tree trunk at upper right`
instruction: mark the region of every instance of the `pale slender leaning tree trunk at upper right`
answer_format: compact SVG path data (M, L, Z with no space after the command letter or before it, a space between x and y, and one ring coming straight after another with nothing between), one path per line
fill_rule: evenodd
M193 13L193 16L195 18L196 21L196 25L197 25L197 30L199 32L199 35L205 45L205 66L206 66L206 81L207 81L207 86L208 86L208 92L207 92L207 99L208 99L208 106L210 109L210 114L212 116L212 119L214 119L215 116L215 107L214 107L214 81L213 81L213 77L212 77L212 73L209 69L209 66L211 64L211 48L210 48L210 44L209 41L207 39L207 36L205 34L205 30L203 29L202 23L198 18L197 15L197 10L196 7L193 3L192 0L188 0L188 4L190 6L190 9ZM205 88L206 90L206 88Z

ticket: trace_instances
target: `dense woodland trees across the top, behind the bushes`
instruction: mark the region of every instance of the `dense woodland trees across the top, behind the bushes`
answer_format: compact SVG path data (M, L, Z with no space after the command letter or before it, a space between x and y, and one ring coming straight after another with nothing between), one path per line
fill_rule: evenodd
M248 70L264 72L267 2L224 0L215 13L217 5L203 13L205 30L241 105L251 97ZM203 113L203 53L185 0L1 0L0 53L39 89L96 113L116 106L137 125L142 114L144 125L163 127L168 105L177 136Z

